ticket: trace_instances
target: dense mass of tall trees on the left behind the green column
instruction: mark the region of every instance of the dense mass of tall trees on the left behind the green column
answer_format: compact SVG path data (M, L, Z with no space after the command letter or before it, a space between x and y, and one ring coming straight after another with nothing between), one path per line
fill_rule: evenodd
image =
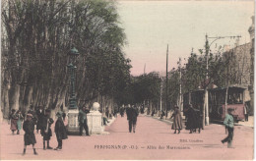
M67 53L76 62L79 106L99 96L113 100L130 77L124 30L116 5L102 0L9 0L2 2L2 107L24 112L44 105L68 106ZM108 101L109 102L109 101Z

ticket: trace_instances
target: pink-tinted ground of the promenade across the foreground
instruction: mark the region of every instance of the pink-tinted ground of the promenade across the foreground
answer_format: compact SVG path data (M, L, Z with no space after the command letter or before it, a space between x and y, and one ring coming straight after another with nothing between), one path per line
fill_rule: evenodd
M171 125L151 117L139 116L137 131L128 133L126 117L118 118L106 127L106 135L75 136L70 135L63 141L60 151L43 150L40 134L36 136L38 155L32 154L32 146L27 154L22 156L23 137L12 135L9 125L1 125L1 160L2 159L50 159L50 160L170 160L170 159L252 159L253 158L253 129L237 126L234 130L233 145L228 149L221 143L224 138L224 127L210 125L201 134L189 134L182 130L181 134L173 134ZM57 145L56 137L50 141Z

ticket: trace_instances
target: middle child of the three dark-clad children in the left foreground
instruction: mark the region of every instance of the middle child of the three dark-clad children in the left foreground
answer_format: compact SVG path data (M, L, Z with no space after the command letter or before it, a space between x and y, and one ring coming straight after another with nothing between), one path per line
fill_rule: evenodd
M43 149L45 150L45 141L47 142L47 149L52 149L52 147L50 147L49 141L50 141L50 137L52 136L52 132L51 132L51 125L54 123L53 119L50 118L50 110L46 109L45 110L45 114L42 118L42 127L40 129L41 135L42 135L42 139L43 139Z

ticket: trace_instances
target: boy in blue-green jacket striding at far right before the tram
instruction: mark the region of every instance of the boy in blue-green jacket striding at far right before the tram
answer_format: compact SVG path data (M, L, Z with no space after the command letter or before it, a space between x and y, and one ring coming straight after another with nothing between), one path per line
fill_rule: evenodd
M224 127L227 129L228 135L222 140L222 142L227 142L227 148L232 148L233 139L233 109L228 108L227 114L224 117Z

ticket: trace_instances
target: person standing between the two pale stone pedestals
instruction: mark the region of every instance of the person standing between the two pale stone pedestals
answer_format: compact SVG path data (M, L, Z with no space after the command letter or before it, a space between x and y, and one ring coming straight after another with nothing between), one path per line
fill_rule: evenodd
M89 134L89 129L88 129L88 120L87 120L87 114L90 113L90 110L84 106L80 111L79 111L79 115L78 115L78 121L79 121L79 126L80 126L80 135L83 134L83 129L85 129L86 131L86 135L90 135Z

